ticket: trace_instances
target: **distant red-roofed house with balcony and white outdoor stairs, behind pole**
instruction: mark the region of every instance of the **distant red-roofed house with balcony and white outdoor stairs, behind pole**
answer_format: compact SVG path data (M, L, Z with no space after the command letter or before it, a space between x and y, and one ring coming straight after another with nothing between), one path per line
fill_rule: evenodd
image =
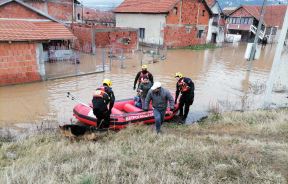
M280 33L286 5L269 5L265 6L264 21L260 32L260 39L265 36L268 42L277 40ZM227 18L226 40L231 40L234 36L239 36L241 41L252 41L257 31L260 20L261 6L240 6L231 12Z

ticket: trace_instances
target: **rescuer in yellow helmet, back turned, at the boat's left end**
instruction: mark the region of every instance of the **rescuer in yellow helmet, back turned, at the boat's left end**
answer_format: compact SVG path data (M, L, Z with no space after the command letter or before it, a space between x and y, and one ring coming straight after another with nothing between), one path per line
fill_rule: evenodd
M104 79L102 84L93 94L93 114L97 117L97 128L108 129L115 96L111 88L112 82L110 79ZM107 107L108 105L109 108Z

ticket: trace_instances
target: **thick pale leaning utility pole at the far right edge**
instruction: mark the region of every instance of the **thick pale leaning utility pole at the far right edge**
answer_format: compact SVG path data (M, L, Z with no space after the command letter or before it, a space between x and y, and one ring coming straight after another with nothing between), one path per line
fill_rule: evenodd
M278 44L276 47L272 68L271 68L271 71L269 74L268 81L266 83L266 91L265 91L265 97L264 97L264 108L267 108L270 105L271 94L272 94L272 90L273 90L273 84L274 84L274 81L277 77L278 70L280 68L281 54L282 54L283 45L284 45L287 31L288 31L288 6L286 8L286 14L284 17L284 22L282 25L281 34L280 34L280 37L278 39Z

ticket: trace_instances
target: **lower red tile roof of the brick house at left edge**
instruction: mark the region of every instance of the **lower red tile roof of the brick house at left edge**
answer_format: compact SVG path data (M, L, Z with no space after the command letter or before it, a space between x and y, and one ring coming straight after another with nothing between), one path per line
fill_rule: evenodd
M74 35L56 22L0 20L0 41L70 40Z

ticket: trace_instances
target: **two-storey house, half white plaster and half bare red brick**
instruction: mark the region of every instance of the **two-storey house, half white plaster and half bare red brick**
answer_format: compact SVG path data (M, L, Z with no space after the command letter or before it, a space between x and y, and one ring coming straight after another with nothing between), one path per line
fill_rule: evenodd
M116 27L136 28L143 43L168 47L205 44L212 16L199 0L125 0L114 12Z

